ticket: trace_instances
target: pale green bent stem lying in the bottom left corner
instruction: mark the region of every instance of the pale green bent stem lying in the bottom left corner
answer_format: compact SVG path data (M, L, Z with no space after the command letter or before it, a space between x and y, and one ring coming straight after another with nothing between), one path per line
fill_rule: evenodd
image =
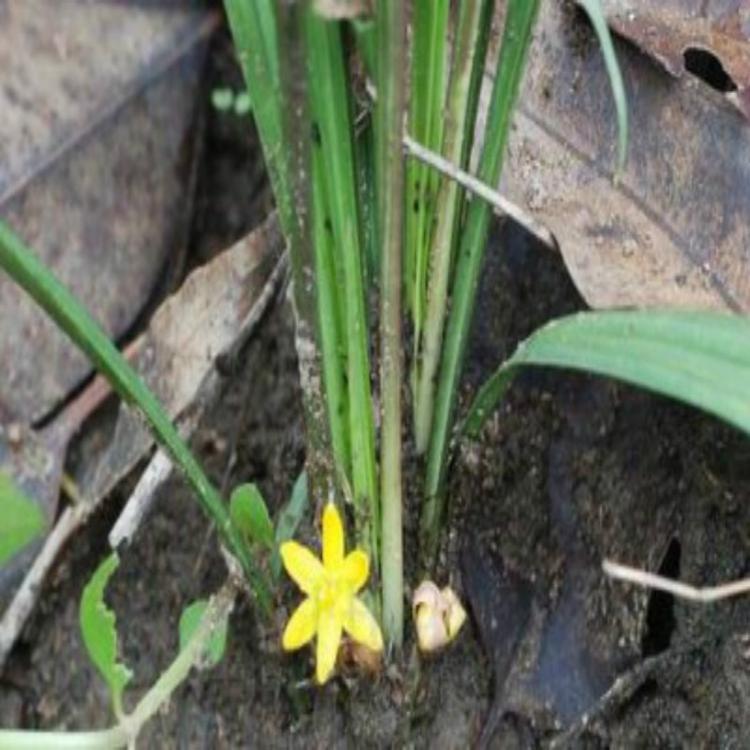
M234 606L237 585L229 581L211 598L198 628L131 714L109 729L90 732L45 732L0 729L0 750L115 750L135 741L145 723L172 697L197 664L217 627Z

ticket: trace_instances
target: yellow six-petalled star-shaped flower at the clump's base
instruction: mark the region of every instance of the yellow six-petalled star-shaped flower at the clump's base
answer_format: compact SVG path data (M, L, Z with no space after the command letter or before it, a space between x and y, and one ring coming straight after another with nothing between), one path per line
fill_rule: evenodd
M289 618L282 646L294 651L317 635L315 672L320 684L333 673L343 631L373 651L383 650L380 627L356 596L370 574L368 557L359 549L344 557L344 527L333 503L323 512L323 562L297 542L281 545L281 559L307 594Z

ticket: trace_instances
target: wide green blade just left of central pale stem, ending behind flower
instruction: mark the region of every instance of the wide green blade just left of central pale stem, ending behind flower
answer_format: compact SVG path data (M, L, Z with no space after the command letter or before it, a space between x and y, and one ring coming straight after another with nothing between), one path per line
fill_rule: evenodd
M344 279L344 288L338 290L338 296L346 301L343 342L346 348L351 484L357 511L358 537L365 548L374 553L378 549L379 513L368 324L363 288L364 244L360 233L354 128L341 27L310 10L306 14L305 28L310 70L310 110L314 128L320 134L320 155L328 187L336 260L343 270ZM336 290L333 294L337 294ZM373 559L376 559L375 555Z

